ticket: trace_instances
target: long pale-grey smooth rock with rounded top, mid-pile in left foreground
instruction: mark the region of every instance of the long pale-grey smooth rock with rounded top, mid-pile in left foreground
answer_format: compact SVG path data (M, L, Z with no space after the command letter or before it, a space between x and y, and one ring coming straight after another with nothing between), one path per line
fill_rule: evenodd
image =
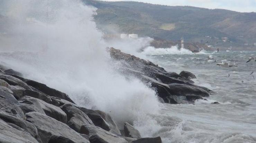
M52 104L46 103L43 100L30 96L24 96L20 100L21 103L33 104L38 109L43 109L45 114L49 117L52 117L63 123L67 123L67 115L64 111L61 110L60 107L54 106Z

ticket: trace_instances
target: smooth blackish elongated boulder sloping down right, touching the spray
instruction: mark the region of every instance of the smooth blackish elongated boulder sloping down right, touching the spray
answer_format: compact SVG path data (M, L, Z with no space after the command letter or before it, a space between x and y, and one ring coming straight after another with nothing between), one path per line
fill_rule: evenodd
M92 120L93 124L95 126L99 126L100 128L106 130L106 131L110 131L111 126L108 124L108 122L106 122L99 113L90 110L90 109L86 109L83 107L78 107L81 111L83 111L86 115L88 115L88 117Z

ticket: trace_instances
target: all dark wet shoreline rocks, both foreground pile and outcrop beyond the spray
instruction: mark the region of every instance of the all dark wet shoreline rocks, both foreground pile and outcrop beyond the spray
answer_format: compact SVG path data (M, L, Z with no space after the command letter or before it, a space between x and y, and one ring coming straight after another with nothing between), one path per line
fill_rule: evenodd
M193 103L211 90L193 85L190 72L166 72L138 57L108 49L118 71L151 86L164 103ZM1 143L161 143L161 137L141 138L131 123L119 130L108 113L86 109L65 93L26 79L0 65Z

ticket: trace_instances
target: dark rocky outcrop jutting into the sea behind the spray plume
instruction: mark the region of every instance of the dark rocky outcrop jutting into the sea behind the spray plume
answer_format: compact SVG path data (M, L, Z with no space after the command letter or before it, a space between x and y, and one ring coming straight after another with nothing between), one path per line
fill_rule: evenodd
M192 103L186 102L186 96L208 97L212 92L208 88L193 85L194 82L190 79L196 78L196 76L190 72L182 71L180 74L166 72L164 68L150 61L122 53L115 48L109 48L109 52L113 60L124 62L124 66L119 69L120 73L135 76L151 85L165 103ZM176 101L175 96L182 97L179 99L184 99L184 102Z

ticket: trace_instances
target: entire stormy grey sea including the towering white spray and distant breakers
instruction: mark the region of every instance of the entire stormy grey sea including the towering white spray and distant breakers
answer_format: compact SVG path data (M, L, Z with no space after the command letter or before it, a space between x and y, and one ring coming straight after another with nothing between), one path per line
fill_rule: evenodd
M256 62L246 63L255 51L154 48L149 37L106 41L93 21L96 9L79 0L5 4L11 22L9 35L1 39L0 64L24 78L65 92L79 106L109 113L119 129L132 123L141 137L160 136L163 143L256 143ZM195 85L213 93L193 103L161 103L150 85L116 70L123 65L111 60L106 47L169 72L189 71ZM217 65L222 62L235 66Z

